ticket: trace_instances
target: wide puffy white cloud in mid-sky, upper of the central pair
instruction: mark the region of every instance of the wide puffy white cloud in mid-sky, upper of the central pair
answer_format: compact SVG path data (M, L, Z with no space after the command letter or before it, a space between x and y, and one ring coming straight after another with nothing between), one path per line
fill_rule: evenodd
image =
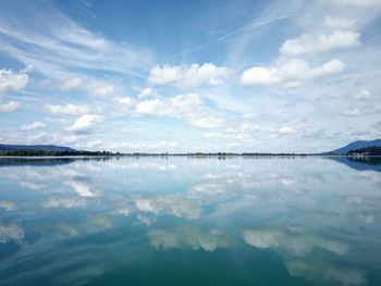
M148 82L152 85L174 85L182 88L198 87L202 84L218 85L229 76L224 66L212 63L202 65L163 65L151 69Z

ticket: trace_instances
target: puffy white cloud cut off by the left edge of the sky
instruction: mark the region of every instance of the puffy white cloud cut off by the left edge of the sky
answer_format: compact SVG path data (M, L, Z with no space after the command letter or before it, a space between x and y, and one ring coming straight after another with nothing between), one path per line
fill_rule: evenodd
M28 83L27 70L15 73L12 70L0 70L0 95L23 90Z

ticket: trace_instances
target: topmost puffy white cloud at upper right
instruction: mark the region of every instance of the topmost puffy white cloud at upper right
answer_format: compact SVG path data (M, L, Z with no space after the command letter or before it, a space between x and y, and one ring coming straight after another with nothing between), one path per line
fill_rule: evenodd
M304 34L299 38L286 40L279 51L290 57L329 52L359 46L359 33L351 30L336 30L330 35L318 36Z

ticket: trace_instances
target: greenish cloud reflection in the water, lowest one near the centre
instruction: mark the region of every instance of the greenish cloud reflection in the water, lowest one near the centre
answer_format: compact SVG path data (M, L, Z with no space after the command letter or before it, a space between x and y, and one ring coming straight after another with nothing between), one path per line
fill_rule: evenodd
M220 229L202 231L197 226L181 225L173 229L152 229L148 232L150 244L156 248L192 248L214 251L229 246Z

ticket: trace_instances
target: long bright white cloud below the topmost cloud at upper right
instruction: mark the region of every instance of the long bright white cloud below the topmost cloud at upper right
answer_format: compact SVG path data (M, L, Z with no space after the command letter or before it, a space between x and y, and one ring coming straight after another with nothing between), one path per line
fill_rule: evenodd
M337 59L311 67L308 62L299 59L284 60L274 66L254 66L244 71L241 77L243 85L283 85L294 87L305 80L333 75L344 70L344 63Z

